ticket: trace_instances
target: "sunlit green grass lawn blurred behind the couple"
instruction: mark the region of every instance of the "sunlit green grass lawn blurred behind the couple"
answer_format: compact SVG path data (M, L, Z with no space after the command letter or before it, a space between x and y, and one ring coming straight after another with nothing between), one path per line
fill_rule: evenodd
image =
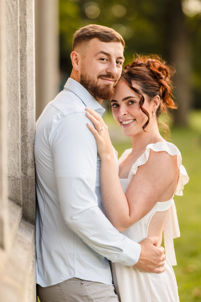
M104 120L120 156L131 143L124 140L111 114L105 114ZM182 164L190 177L184 196L174 197L181 237L174 239L177 266L173 268L180 302L198 302L201 301L201 111L189 115L188 128L173 128L169 141L181 151Z

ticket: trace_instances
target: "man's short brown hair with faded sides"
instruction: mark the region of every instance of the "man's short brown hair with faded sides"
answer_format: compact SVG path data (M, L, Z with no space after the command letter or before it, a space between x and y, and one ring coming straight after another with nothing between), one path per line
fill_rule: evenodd
M93 38L98 38L102 42L120 42L123 47L125 46L124 39L114 29L102 25L90 24L75 32L72 50L74 51L78 44L89 41Z

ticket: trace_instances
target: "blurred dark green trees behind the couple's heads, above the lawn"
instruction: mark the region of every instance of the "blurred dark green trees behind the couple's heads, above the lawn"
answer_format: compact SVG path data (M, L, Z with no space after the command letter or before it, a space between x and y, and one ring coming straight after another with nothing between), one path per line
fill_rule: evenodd
M133 53L156 53L175 65L179 110L174 121L187 124L190 108L201 107L200 0L60 0L59 4L60 68L65 79L71 72L71 44L77 28L112 27L125 40L125 63Z

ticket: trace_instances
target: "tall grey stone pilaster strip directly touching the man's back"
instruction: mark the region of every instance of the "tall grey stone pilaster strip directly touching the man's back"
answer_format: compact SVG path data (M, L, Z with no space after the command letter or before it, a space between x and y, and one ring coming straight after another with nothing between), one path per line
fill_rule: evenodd
M35 224L35 34L34 1L20 0L20 133L23 218Z

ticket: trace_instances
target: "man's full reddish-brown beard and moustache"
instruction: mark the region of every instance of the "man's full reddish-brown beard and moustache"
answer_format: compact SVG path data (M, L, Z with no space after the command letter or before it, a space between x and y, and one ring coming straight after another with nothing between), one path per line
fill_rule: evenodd
M103 79L112 79L115 82L117 81L117 76L116 75L99 75L98 78L103 78ZM115 88L111 84L102 84L98 85L97 81L90 77L89 75L86 75L84 72L81 72L80 74L80 84L84 86L92 95L94 98L100 98L102 100L109 100L114 92Z

